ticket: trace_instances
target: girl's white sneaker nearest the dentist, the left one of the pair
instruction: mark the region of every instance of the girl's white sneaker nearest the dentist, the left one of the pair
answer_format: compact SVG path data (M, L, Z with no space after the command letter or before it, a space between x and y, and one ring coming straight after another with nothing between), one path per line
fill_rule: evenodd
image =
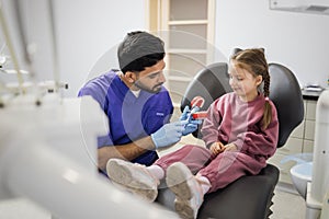
M106 163L106 172L114 185L149 203L158 196L159 180L152 176L145 165L121 159L110 159Z

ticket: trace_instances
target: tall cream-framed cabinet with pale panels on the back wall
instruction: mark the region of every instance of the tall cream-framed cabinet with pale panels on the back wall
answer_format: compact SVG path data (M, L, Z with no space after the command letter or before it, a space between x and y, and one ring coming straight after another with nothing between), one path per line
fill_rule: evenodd
M179 106L192 78L214 62L215 0L149 0L148 4L149 30L166 43L166 87Z

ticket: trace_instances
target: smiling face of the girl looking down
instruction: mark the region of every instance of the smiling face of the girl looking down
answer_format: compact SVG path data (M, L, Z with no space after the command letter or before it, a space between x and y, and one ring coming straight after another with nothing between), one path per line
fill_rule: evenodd
M262 76L239 68L235 61L230 61L228 69L229 85L237 95L245 102L254 100L258 96L258 87L262 82Z

